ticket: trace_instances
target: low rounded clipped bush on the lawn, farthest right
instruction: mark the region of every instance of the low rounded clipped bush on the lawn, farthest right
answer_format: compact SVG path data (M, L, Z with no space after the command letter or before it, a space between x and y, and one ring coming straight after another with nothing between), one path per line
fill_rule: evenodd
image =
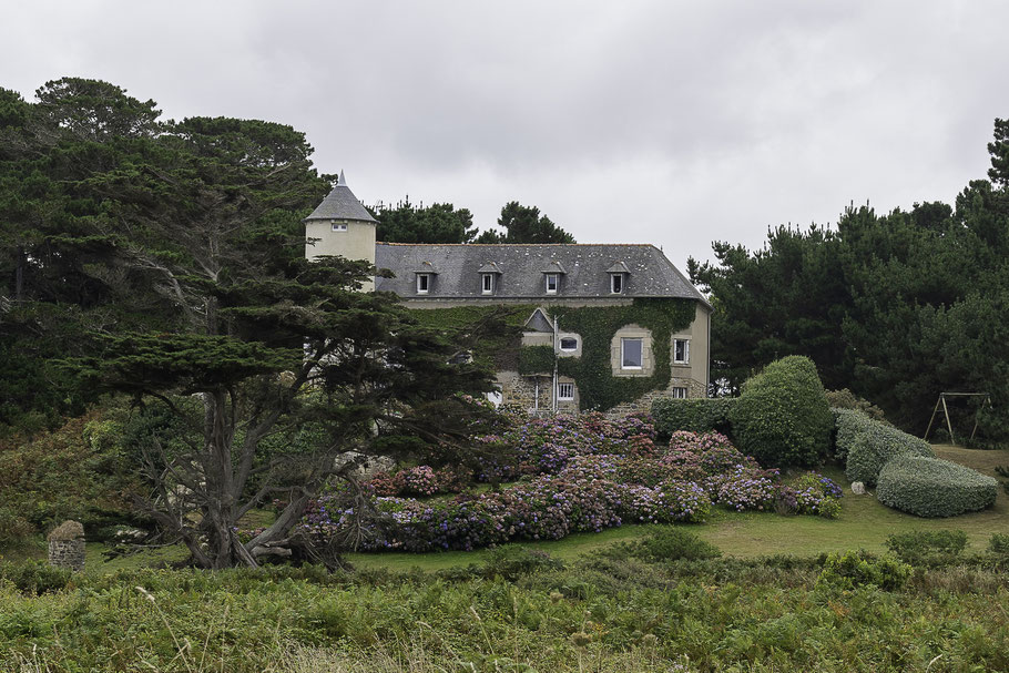
M995 504L998 482L948 460L901 456L879 471L876 498L918 517L956 517Z

